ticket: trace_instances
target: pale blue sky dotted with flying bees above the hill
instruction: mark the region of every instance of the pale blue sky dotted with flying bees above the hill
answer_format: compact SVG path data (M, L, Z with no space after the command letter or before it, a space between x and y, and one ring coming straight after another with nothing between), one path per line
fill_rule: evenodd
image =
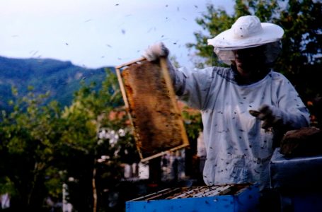
M195 19L207 4L228 13L234 7L232 0L1 0L0 56L96 69L138 59L163 42L181 66L191 66L185 45L202 31Z

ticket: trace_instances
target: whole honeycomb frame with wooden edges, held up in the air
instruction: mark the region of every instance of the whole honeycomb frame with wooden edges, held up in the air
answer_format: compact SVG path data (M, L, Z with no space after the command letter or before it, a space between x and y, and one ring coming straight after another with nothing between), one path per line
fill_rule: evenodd
M116 71L142 162L189 146L166 59L138 59Z

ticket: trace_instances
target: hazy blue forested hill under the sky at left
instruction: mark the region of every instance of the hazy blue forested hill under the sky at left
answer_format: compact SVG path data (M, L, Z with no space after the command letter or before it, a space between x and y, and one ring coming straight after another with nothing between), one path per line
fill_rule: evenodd
M50 91L47 102L57 100L64 106L70 104L81 81L86 84L96 82L99 87L105 77L105 68L87 69L70 61L0 57L0 110L10 108L8 101L14 100L12 87L18 89L19 96L27 94L30 86L36 94Z

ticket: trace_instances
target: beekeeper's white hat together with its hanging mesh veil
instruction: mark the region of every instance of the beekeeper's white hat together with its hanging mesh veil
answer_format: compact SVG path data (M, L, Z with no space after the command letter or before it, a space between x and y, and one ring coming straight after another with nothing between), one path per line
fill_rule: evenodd
M260 23L256 16L241 16L231 26L216 37L208 40L214 46L214 52L225 64L234 60L232 50L268 45L265 51L266 63L272 64L280 53L280 40L284 30L274 23Z

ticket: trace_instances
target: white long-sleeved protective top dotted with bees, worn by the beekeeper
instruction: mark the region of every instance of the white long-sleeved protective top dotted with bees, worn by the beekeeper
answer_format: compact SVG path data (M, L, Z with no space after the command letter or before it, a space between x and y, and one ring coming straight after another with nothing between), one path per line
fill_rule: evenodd
M261 121L248 110L270 105L283 124L294 129L308 126L309 112L287 78L270 71L256 83L239 86L231 68L183 68L170 73L180 100L202 112L205 183L250 182L268 187L272 130L262 129Z

